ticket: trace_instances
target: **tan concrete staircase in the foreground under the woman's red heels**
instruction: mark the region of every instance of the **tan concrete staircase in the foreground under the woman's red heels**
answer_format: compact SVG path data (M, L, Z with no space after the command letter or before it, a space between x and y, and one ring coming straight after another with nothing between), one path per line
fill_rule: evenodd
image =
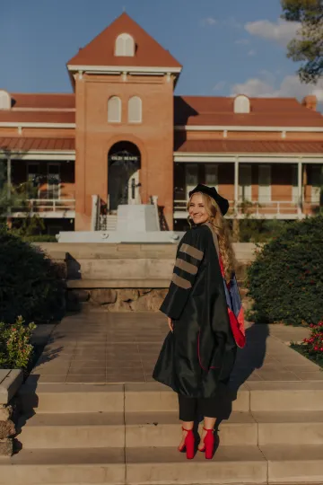
M160 384L33 384L20 394L22 451L0 484L323 481L323 382L249 382L214 460L179 454L177 397Z

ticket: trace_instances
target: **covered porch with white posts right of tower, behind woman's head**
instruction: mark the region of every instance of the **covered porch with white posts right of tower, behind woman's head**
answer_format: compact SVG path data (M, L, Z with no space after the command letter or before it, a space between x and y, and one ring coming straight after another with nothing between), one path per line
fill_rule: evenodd
M228 218L298 219L321 206L323 155L174 154L174 219L186 219L188 192L214 186L230 201Z

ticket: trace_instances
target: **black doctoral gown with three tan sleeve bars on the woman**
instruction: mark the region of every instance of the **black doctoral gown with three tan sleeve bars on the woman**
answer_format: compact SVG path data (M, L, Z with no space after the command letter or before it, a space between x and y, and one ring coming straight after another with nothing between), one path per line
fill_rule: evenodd
M184 235L161 306L174 331L164 340L153 378L194 398L218 395L229 380L237 348L214 237L209 225Z

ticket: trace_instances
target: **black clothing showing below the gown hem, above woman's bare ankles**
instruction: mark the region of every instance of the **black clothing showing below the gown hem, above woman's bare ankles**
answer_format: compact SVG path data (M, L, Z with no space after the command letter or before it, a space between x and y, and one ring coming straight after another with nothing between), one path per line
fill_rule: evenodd
M181 421L195 421L199 416L217 418L217 399L196 399L179 394L179 419Z

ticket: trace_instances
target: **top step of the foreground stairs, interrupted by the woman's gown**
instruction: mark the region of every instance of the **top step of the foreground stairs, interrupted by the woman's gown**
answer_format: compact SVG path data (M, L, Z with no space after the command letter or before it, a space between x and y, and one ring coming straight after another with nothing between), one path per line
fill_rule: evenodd
M309 397L310 396L310 397ZM20 391L22 410L37 412L162 412L178 410L170 388L144 384L25 384ZM322 411L323 382L248 382L238 393L228 393L219 416L231 410Z

